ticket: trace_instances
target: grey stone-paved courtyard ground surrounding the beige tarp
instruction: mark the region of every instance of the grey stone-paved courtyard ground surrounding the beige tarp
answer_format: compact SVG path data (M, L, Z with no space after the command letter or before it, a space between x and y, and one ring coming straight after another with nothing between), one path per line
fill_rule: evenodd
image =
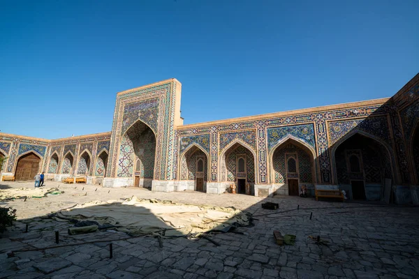
M64 194L0 202L17 209L19 219L0 239L0 278L419 278L418 207L46 184ZM0 190L22 187L33 183L3 183ZM161 247L152 236L130 238L112 230L70 236L70 223L47 217L77 203L132 195L235 206L253 214L254 226L210 235L219 246L207 239L163 238ZM262 209L266 201L279 209ZM274 230L295 234L295 245L278 246ZM38 249L52 246L64 247ZM30 251L10 254L16 250Z

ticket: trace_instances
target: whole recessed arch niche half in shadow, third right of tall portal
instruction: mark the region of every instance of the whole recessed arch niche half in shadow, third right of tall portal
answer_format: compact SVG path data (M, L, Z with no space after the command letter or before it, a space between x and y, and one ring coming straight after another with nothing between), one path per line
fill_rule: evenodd
M268 174L270 182L287 184L286 169L289 158L286 158L287 156L285 156L285 154L282 154L284 156L280 156L280 158L277 157L279 156L278 152L281 151L281 149L284 149L288 144L295 146L295 150L288 150L288 152L300 153L301 157L295 162L299 172L295 177L293 177L293 179L298 179L299 183L316 183L319 172L318 165L316 164L316 151L313 146L309 145L304 140L294 137L293 135L286 135L286 137L279 140L279 142L277 142L277 144L275 144L268 153L268 163L270 166L268 168ZM279 165L281 165L280 169ZM298 167L299 165L301 166ZM302 177L300 177L300 174Z

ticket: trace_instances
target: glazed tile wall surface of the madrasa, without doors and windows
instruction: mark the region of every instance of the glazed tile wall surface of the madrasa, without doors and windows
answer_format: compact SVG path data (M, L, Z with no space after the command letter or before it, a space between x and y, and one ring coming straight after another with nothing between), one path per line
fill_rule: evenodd
M152 179L154 190L171 191L182 188L181 181L194 177L194 166L188 162L193 159L186 155L193 147L205 156L207 189L221 187L222 191L224 184L237 181L237 176L242 175L235 170L237 154L249 158L246 176L247 181L254 183L255 195L262 186L272 193L277 184L286 184L290 176L298 176L300 183L342 186L341 183L350 183L351 178L343 174L346 166L342 160L346 160L348 152L342 153L338 147L355 135L362 135L372 140L374 152L381 154L385 166L381 170L367 167L374 165L367 162L369 158L373 160L374 154L368 155L369 151L358 146L366 166L359 179L380 184L385 177L400 189L419 184L419 156L415 155L419 75L392 98L189 125L183 125L180 117L181 87L172 79L117 93L110 133L61 140L0 134L0 152L8 157L3 173L13 174L20 156L33 152L41 158L40 170L50 174L105 176L105 186L112 187L130 186L134 177L140 176ZM139 141L130 135L136 123L147 126L153 135L148 138L155 142ZM141 147L140 142L147 142L148 146ZM278 153L289 144L294 146L299 174L286 173L291 149ZM154 151L147 154L152 147ZM89 160L80 156L84 151L88 151ZM103 151L108 157L99 160ZM71 167L65 162L67 154L75 161ZM137 171L135 165L140 157L143 163ZM82 158L85 164L81 163Z

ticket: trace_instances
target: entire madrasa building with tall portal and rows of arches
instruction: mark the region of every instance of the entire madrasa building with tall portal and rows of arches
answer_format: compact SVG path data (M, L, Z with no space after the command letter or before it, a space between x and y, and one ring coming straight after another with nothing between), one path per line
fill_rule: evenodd
M117 93L112 131L44 140L0 133L1 176L88 184L419 204L419 74L391 98L183 125L181 84ZM250 193L249 193L250 189Z

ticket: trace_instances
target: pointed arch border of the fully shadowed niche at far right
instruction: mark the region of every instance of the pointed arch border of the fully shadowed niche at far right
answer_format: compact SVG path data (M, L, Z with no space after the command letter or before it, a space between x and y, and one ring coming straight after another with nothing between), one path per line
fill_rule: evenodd
M391 168L393 183L398 181L399 176L397 175L397 172L395 171L395 156L393 156L394 152L393 152L392 148L390 147L390 145L388 143L384 142L383 140L381 140L379 137L376 137L375 135L372 135L371 133L368 133L365 130L360 130L360 129L355 128L355 129L351 130L349 133L347 133L346 135L344 135L343 137L341 137L332 146L332 149L331 149L331 152L330 152L330 158L332 158L332 166L333 166L332 169L333 169L333 181L334 181L334 183L338 182L337 181L337 167L336 167L335 153L336 153L338 147L341 144L343 144L344 142L346 142L346 140L348 140L349 138L353 137L356 134L362 135L364 137L369 138L370 140L378 142L378 144L381 144L381 146L384 147L385 151L387 151L388 158L390 159L390 168Z

